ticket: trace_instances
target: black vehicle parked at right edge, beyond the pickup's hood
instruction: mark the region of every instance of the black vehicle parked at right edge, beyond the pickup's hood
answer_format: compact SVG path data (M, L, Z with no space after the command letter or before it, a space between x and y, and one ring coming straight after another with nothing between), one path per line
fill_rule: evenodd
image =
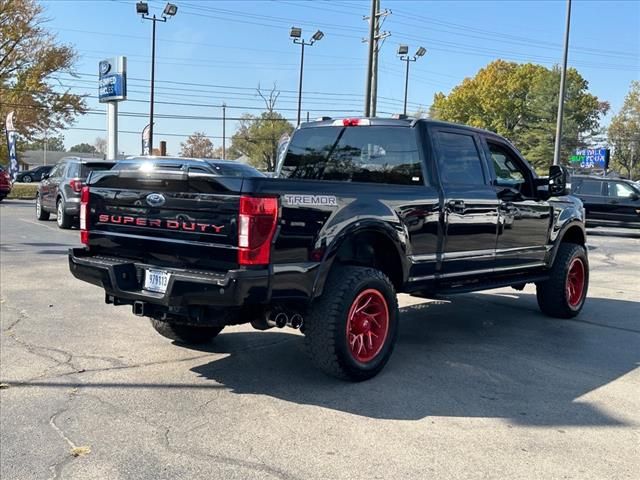
M574 175L571 189L587 214L587 226L640 227L640 188L621 178Z

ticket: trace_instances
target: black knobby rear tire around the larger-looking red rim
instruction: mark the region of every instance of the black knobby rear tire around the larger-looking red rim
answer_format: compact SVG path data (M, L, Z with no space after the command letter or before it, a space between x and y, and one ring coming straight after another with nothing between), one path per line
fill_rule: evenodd
M381 350L362 363L351 352L347 318L365 290L376 290L388 307L388 331ZM327 375L359 382L377 375L391 357L398 336L398 300L393 284L379 270L339 266L333 269L323 294L313 302L305 318L305 344L311 361Z

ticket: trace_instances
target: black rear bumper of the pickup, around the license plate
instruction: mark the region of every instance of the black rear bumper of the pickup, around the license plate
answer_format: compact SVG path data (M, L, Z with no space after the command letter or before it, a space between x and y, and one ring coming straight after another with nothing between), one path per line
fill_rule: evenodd
M206 305L240 307L267 303L271 275L265 270L230 270L224 273L161 268L171 277L165 293L142 289L145 268L159 269L121 258L92 256L84 248L69 250L69 269L74 277L104 288L110 303L136 301L165 307Z

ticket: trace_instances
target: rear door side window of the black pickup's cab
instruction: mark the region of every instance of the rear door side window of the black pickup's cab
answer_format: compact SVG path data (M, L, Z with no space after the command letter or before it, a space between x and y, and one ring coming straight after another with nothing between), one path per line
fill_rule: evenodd
M484 185L482 160L471 135L436 131L438 166L443 183Z

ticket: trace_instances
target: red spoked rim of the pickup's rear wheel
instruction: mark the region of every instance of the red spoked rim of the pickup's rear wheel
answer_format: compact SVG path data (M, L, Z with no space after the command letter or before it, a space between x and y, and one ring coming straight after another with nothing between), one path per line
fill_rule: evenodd
M387 340L389 307L382 293L373 288L355 298L347 316L347 342L358 362L373 360Z

